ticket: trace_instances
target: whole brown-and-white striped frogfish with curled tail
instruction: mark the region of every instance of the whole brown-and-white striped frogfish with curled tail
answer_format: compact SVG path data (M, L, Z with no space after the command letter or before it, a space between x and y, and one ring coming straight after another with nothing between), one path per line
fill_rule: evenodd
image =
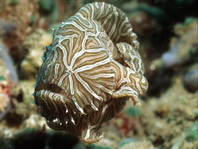
M88 4L63 22L44 53L34 92L47 124L87 143L102 139L100 125L128 99L139 106L148 88L138 49L128 18L113 5Z

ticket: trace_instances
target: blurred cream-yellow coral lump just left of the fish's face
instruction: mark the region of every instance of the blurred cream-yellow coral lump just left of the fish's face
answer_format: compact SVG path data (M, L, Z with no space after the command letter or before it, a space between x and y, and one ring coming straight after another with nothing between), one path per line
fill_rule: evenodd
M42 55L45 47L52 41L51 34L36 30L30 34L23 42L23 48L27 49L27 54L20 64L20 78L34 79L42 64Z

